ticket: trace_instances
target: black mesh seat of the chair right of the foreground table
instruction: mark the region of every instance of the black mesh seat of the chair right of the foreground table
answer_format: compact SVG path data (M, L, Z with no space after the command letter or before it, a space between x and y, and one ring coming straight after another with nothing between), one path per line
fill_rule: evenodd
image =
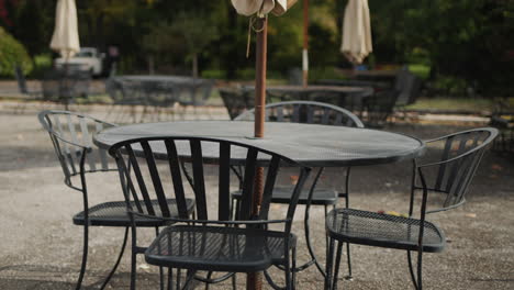
M420 220L353 209L336 209L326 216L332 238L369 246L417 250ZM426 222L423 252L437 253L445 247L445 235Z

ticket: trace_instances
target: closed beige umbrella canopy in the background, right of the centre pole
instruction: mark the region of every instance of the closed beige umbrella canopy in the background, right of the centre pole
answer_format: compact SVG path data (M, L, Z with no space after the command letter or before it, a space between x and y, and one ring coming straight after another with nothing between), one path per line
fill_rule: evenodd
M340 52L353 64L360 64L372 51L368 0L348 0Z

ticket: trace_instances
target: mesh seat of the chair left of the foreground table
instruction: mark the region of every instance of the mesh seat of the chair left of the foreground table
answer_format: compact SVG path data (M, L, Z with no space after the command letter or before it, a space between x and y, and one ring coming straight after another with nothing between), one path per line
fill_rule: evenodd
M168 199L168 207L172 216L178 216L177 202L175 199ZM187 199L188 214L193 211L194 200ZM153 205L158 205L157 200L152 200ZM134 202L132 205L135 207ZM161 226L166 222L161 219L150 219L141 215L134 215L137 226ZM74 224L83 225L83 211L74 216ZM103 225L103 226L131 226L131 219L126 213L125 201L104 202L91 207L89 209L89 225Z

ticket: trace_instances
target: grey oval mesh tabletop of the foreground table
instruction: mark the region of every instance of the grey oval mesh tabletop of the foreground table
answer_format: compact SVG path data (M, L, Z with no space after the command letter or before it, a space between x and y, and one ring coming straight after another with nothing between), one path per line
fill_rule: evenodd
M393 163L423 154L425 144L402 134L344 126L280 123L265 124L265 137L254 138L254 123L244 121L185 121L142 123L100 132L94 143L109 148L114 143L147 136L219 137L260 147L289 157L305 166L339 167ZM188 156L189 148L178 146ZM166 155L166 148L154 148ZM217 158L217 145L203 148L204 158ZM158 157L158 156L157 156ZM231 159L244 160L245 152L233 152Z

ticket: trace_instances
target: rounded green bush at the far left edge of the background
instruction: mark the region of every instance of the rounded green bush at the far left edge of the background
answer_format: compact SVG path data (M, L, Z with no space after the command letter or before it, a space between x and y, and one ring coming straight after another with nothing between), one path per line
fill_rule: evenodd
M16 64L22 67L23 74L32 71L33 65L25 47L0 27L0 76L13 77Z

